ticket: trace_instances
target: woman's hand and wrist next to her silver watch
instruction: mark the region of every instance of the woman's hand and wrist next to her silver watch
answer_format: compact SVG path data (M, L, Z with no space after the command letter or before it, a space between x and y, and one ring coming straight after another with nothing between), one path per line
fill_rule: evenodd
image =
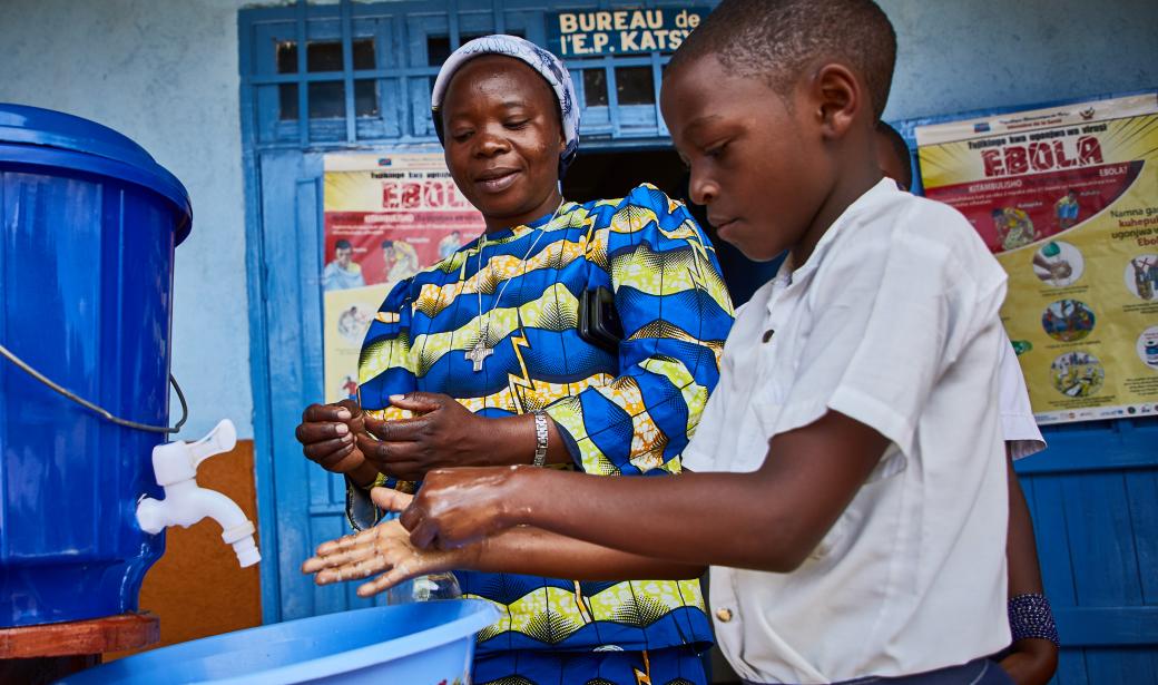
M390 405L415 416L396 421L365 416L368 433L356 436L359 451L387 475L419 481L437 468L529 464L534 454L530 416L486 418L438 393L391 395Z

